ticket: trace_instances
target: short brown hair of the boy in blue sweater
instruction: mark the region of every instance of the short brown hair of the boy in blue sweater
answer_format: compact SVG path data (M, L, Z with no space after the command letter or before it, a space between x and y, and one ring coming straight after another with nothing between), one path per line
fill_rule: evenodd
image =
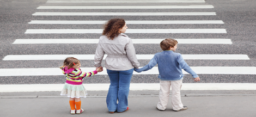
M174 47L176 44L178 44L178 41L175 39L164 39L160 42L160 47L163 51L169 50L170 47Z

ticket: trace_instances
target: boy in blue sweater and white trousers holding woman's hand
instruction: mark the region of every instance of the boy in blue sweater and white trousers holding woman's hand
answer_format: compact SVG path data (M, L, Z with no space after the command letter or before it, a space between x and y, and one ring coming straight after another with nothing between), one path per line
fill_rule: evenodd
M172 86L172 107L173 110L179 112L186 110L187 107L181 103L180 89L182 85L183 73L181 69L190 73L194 81L200 81L197 73L184 61L180 53L175 53L178 41L174 39L165 39L160 43L163 52L156 53L149 64L136 69L136 72L142 72L152 69L158 64L160 78L159 102L156 106L159 110L165 110L169 100L170 86Z

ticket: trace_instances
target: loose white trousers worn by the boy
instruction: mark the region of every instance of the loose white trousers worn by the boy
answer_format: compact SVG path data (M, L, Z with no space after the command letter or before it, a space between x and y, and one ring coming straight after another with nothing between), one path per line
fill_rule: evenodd
M160 92L159 92L159 102L157 103L157 108L160 110L165 110L169 101L170 86L172 86L172 107L173 110L179 110L183 108L180 97L180 89L182 86L182 80L180 81L161 81L160 80Z

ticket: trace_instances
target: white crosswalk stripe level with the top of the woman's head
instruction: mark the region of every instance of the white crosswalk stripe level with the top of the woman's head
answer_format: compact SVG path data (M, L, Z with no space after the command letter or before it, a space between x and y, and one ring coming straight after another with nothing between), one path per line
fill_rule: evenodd
M104 24L107 21L32 20L29 24ZM126 24L224 24L221 20L125 21Z

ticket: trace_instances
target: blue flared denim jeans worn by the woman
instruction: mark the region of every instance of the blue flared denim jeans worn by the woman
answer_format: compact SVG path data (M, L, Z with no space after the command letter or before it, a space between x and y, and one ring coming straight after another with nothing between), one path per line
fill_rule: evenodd
M107 70L107 73L110 79L106 100L108 111L123 112L128 106L128 95L133 69L125 71Z

